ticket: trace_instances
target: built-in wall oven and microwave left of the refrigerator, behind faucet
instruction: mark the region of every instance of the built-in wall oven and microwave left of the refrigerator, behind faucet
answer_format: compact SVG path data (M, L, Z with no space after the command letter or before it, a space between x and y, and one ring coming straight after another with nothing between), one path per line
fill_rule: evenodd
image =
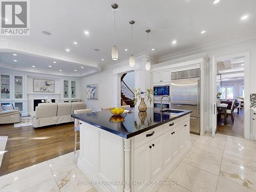
M154 108L159 108L161 105L161 97L163 95L170 95L170 85L165 84L165 85L158 85L154 86L154 98L153 98L153 103L154 103ZM165 109L170 109L170 101L167 97L163 98L163 107Z

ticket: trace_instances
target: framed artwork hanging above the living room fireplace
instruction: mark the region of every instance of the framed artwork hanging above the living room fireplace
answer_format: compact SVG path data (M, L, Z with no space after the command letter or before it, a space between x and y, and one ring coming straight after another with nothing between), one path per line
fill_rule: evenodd
M55 82L49 79L33 79L33 92L54 93Z

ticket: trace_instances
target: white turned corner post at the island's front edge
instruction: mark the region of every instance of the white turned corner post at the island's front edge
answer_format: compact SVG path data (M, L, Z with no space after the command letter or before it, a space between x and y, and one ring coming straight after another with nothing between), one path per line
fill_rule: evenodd
M124 192L130 192L130 151L131 151L131 139L124 140Z

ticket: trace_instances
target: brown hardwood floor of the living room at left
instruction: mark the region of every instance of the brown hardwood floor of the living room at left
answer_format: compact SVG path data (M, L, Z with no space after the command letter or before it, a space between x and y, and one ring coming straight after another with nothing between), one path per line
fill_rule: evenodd
M8 136L0 176L74 151L74 123L39 129L0 125L0 136Z

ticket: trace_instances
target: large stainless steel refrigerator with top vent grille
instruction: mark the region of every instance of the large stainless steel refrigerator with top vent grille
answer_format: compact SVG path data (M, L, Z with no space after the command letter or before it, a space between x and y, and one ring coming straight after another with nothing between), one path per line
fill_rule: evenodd
M192 110L190 132L200 134L200 69L172 73L171 108Z

